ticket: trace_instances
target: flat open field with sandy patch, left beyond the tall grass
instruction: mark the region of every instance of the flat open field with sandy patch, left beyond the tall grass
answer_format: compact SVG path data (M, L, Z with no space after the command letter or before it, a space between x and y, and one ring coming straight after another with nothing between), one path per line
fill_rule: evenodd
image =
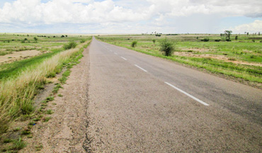
M16 77L19 72L62 52L69 41L90 40L83 35L0 34L0 79ZM55 36L55 38L54 38ZM67 37L66 37L67 36ZM38 40L35 41L34 38ZM27 39L27 40L25 40Z

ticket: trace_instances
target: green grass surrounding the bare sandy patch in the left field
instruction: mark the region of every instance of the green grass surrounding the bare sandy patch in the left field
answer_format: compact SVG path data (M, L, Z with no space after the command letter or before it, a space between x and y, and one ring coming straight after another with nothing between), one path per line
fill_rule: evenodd
M56 38L52 38L54 35L43 35L46 37L42 37L42 34L32 34L27 36L27 34L21 35L9 33L6 35L0 35L0 56L23 50L38 50L40 52L47 51L47 53L29 59L19 60L8 64L0 64L0 81L1 79L17 77L19 73L23 72L25 69L35 69L38 64L47 58L56 55L58 52L64 51L63 45L67 45L67 42L75 42L74 45L78 45L86 40L91 40L90 36L80 37L79 35L68 35L68 37L64 38L61 38L61 35L55 35ZM38 42L34 42L34 37L38 38ZM25 38L31 40L30 43L21 43ZM7 42L8 40L9 42Z

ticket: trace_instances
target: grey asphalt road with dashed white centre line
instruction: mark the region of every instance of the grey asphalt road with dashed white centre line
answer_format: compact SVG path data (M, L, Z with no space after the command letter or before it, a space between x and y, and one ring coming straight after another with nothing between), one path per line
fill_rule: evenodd
M93 39L93 152L261 152L262 91Z

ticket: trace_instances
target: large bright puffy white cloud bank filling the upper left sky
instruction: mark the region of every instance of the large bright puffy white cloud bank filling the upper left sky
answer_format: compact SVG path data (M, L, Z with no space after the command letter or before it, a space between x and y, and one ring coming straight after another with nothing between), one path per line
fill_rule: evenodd
M84 4L82 4L84 3ZM17 0L0 9L1 23L105 23L139 21L149 18L149 10L133 11L116 6L112 0Z

